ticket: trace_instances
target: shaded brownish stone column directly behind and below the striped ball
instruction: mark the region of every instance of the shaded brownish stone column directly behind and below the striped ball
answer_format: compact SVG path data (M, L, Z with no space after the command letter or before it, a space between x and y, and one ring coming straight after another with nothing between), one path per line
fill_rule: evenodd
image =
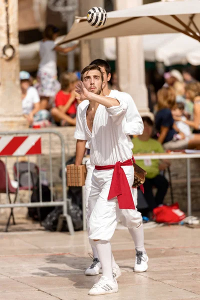
M87 11L94 6L104 7L104 1L79 0L79 15L86 16ZM104 59L103 40L82 40L80 42L80 69L88 65L92 60L96 58Z

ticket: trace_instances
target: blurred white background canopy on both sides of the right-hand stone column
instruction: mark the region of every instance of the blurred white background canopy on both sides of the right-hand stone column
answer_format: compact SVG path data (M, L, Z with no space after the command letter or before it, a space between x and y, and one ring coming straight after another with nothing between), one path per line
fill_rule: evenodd
M165 65L186 64L200 65L200 43L182 33L163 33L143 35L144 59L161 61ZM115 37L103 40L104 54L109 60L116 59Z

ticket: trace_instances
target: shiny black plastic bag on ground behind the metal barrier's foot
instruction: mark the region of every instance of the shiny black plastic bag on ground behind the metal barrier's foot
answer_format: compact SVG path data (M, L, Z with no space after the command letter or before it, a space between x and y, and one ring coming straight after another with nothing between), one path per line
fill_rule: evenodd
M62 214L62 207L55 207L44 219L42 226L46 230L55 231L59 215ZM68 205L68 214L71 216L74 230L82 230L82 211L78 205ZM68 231L66 220L63 221L61 231Z

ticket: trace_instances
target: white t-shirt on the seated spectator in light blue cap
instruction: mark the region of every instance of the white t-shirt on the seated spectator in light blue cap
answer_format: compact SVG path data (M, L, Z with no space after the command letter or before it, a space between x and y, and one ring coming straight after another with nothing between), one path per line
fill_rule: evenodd
M29 114L34 108L34 103L38 103L39 101L40 98L36 88L33 86L29 86L26 96L22 100L23 114Z

